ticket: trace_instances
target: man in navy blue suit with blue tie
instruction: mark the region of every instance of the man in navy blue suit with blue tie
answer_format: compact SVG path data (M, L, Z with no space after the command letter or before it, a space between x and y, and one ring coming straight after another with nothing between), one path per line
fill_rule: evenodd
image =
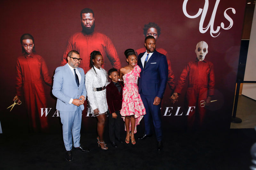
M168 64L166 56L156 51L156 39L149 35L145 38L146 52L138 55L138 65L141 68L139 93L146 108L144 115L145 134L139 139L152 135L151 119L156 132L157 150L162 150L161 99L168 79Z

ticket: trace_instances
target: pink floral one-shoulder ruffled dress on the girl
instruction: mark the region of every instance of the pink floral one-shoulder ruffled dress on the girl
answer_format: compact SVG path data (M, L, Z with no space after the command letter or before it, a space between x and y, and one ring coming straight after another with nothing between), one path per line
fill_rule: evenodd
M138 91L138 78L140 77L140 67L138 65L134 66L133 70L126 73L123 76L124 88L123 88L123 102L120 114L122 116L134 115L135 117L135 129L134 133L137 132L137 125L140 124L140 120L143 115L146 114L145 107L140 98ZM125 117L122 117L123 119ZM125 129L126 130L126 129ZM130 122L131 131L131 122Z

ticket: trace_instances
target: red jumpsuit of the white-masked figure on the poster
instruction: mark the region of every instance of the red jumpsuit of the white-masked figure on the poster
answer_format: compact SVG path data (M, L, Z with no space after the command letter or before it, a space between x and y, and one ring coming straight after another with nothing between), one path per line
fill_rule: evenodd
M196 61L189 62L183 69L174 92L181 93L186 82L188 82L186 94L188 107L196 107L188 115L188 127L194 125L196 113L198 113L199 123L202 125L206 108L200 107L200 101L206 100L207 96L214 95L213 64L206 60L198 61L197 58Z

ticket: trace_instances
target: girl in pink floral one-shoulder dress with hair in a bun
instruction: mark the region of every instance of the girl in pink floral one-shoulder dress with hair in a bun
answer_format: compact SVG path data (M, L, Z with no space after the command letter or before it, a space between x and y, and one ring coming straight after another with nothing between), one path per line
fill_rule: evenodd
M119 70L120 78L124 80L123 102L120 114L124 116L125 142L128 144L131 138L132 144L135 144L134 133L137 132L136 126L140 124L140 120L146 114L137 85L141 69L137 65L137 56L133 49L125 50L124 55L128 65Z

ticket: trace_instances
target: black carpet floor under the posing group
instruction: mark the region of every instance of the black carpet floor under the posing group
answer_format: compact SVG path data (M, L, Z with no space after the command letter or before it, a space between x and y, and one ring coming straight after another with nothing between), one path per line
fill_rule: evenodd
M250 148L256 142L254 129L170 132L164 133L161 152L155 136L117 148L106 137L109 149L103 151L96 137L81 134L81 145L91 151L73 151L73 161L67 162L62 134L0 134L0 169L244 170L252 165Z

